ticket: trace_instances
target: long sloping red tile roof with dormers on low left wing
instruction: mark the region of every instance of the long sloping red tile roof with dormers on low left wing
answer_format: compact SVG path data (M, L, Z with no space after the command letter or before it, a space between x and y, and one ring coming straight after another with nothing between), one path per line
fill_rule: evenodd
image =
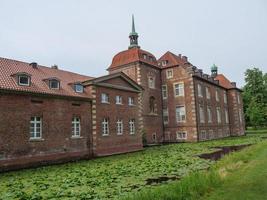
M31 85L18 85L14 77L14 74L17 73L29 74L31 76ZM47 82L44 81L49 78L60 80L60 89L50 89ZM71 86L73 83L83 82L89 79L92 79L92 77L40 65L37 68L33 68L26 62L0 58L0 89L2 90L89 98L91 95L89 91L76 93Z

